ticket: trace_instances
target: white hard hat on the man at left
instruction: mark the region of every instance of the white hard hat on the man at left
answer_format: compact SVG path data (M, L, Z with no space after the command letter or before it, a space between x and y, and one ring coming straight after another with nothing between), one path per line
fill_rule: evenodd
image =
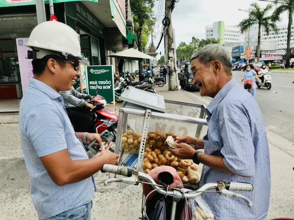
M89 66L87 58L81 56L81 47L77 33L62 22L43 22L31 32L25 46L33 49L31 59L41 59L49 54L57 54L65 59L79 60Z

